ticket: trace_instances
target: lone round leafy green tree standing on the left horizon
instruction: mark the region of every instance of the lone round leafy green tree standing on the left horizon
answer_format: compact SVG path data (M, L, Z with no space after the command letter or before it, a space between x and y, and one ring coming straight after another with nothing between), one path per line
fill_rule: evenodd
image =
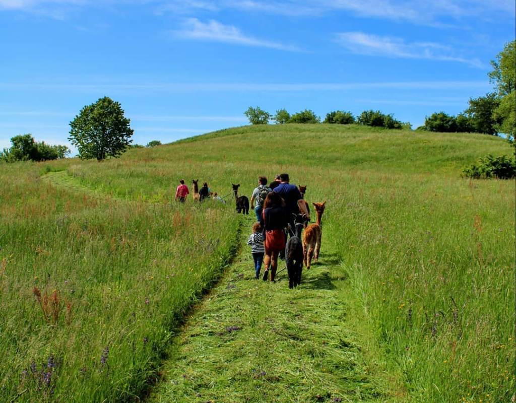
M80 110L70 122L68 139L77 146L81 159L118 157L132 142L130 124L120 103L105 96Z

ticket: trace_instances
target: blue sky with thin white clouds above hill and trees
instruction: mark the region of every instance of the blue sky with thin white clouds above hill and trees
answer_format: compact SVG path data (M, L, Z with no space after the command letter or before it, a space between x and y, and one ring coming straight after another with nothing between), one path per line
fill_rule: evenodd
M492 89L513 1L0 0L0 148L67 144L102 96L146 144L273 113L365 109L414 127Z

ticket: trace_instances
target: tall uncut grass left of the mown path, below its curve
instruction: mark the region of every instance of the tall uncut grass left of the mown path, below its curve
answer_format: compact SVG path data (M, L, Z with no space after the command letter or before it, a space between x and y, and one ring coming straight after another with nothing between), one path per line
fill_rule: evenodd
M35 164L0 177L0 400L131 400L229 261L238 220L67 192Z

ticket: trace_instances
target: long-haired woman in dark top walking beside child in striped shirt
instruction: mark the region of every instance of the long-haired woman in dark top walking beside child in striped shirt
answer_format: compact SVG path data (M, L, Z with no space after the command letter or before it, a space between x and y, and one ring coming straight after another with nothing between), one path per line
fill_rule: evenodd
M265 234L265 271L263 280L274 281L278 269L278 254L285 251L285 227L287 216L285 202L276 192L270 192L263 206L263 232Z

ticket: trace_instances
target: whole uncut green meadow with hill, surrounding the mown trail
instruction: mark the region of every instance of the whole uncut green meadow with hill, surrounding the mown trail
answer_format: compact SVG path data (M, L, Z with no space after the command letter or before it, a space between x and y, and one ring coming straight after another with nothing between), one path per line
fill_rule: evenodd
M0 398L141 395L188 307L249 230L231 204L173 203L178 180L206 181L221 196L240 183L250 196L258 175L288 172L309 202L327 200L322 257L337 255L342 292L408 400L510 401L515 184L460 172L511 152L478 134L288 124L100 164L3 165ZM46 182L49 171L66 171L78 189Z

